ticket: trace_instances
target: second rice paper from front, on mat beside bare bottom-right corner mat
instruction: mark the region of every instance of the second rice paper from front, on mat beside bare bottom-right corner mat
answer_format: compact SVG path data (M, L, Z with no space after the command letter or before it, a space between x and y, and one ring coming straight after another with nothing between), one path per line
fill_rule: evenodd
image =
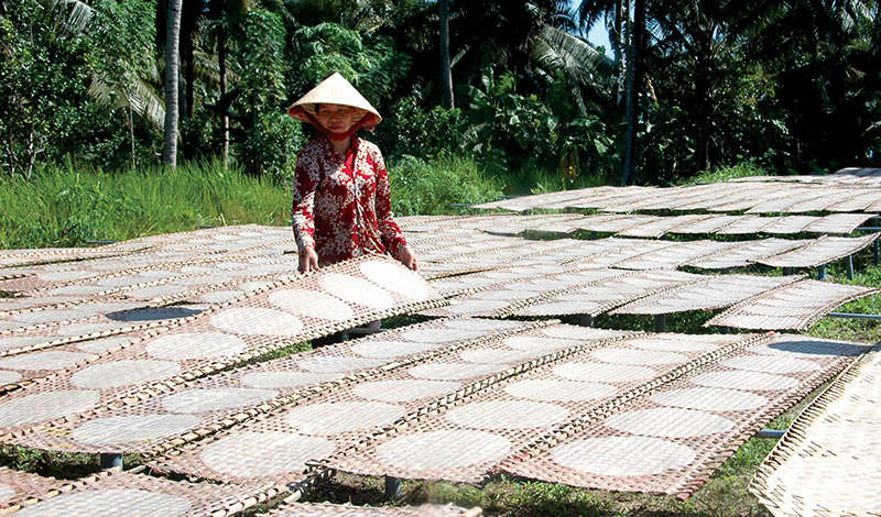
M612 415L606 419L606 426L632 435L688 438L725 432L735 422L710 413L662 407Z

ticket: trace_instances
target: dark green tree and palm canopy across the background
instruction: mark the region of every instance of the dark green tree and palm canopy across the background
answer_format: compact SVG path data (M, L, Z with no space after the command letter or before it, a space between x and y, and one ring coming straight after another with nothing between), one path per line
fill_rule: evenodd
M499 176L542 169L662 185L743 162L779 173L879 165L873 1L182 8L182 160L222 157L289 178L311 131L285 108L339 72L383 114L370 139L410 164L468 156ZM2 175L65 160L106 170L161 162L166 9L167 0L0 0ZM586 41L596 24L613 57Z

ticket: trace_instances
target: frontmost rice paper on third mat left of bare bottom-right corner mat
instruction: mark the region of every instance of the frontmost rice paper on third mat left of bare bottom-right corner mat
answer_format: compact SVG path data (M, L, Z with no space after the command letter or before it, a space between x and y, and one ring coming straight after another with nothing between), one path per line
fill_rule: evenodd
M331 441L291 432L242 432L209 443L199 454L205 466L238 477L262 477L301 472L308 460L336 450Z

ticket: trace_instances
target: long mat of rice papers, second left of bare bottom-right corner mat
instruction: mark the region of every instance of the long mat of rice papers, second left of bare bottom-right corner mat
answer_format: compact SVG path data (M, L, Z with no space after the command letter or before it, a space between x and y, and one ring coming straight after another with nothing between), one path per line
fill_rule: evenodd
M637 336L583 346L510 376L405 425L378 433L325 464L404 479L480 482L546 435L755 337Z

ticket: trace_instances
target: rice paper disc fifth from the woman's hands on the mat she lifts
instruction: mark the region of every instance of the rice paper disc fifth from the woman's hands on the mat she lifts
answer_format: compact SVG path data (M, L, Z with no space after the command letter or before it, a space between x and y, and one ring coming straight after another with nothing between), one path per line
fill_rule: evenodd
M248 349L241 338L224 332L186 332L160 336L146 344L146 353L156 359L187 361L229 358Z

